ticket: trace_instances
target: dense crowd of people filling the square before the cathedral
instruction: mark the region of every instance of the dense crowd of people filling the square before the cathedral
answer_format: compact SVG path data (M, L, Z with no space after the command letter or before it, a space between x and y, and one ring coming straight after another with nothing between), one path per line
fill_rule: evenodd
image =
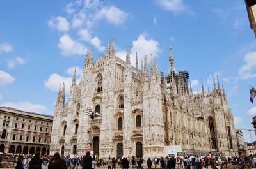
M116 159L116 158L92 158L90 152L86 152L86 156L74 157L70 156L60 156L56 152L53 156L40 156L38 153L35 155L20 155L20 156L0 156L0 162L9 161L14 163L15 169L41 169L42 165L47 166L48 169L77 169L79 166L82 169L96 169L100 166L106 166L108 169L116 169L116 166L119 166L122 169L141 169L145 165L148 169L150 168L164 168L164 169L174 169L174 168L184 168L184 169L202 169L204 168L213 168L217 169L222 161L227 161L229 163L253 163L256 166L256 156L248 156L244 158L232 157L232 158L216 158L215 156L205 156L205 157L160 157L160 158L148 158L146 163L143 159L135 158L134 156ZM252 165L250 165L252 166ZM2 166L3 167L3 166ZM7 166L12 167L12 166Z

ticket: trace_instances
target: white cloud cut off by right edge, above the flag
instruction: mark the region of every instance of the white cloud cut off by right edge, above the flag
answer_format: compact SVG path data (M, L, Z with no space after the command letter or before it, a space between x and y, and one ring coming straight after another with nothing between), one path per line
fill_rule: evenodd
M256 77L256 72L253 73L253 70L256 68L256 51L247 52L244 56L244 62L243 66L241 66L238 71L239 78L246 80Z

